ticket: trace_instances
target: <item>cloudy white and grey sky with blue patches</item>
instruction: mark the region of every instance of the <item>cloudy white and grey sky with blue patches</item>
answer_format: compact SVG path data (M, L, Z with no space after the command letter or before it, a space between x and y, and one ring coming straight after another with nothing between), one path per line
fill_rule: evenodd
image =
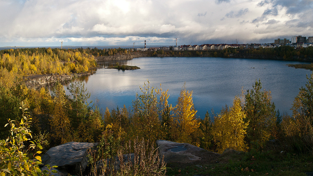
M269 43L313 36L313 0L0 0L0 47Z

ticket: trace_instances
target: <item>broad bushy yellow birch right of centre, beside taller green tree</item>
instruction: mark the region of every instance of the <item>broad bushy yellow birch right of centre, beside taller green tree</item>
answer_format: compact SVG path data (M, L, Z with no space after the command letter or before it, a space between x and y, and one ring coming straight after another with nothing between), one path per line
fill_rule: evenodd
M233 99L233 107L223 108L221 113L214 119L213 136L218 144L218 153L223 153L227 148L246 151L244 143L248 123L244 123L246 115L240 106L240 99Z

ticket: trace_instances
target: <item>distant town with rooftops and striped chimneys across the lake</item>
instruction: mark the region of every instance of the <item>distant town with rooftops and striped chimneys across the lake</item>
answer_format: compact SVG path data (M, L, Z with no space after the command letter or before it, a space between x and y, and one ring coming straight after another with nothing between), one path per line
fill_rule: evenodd
M146 48L146 41L145 41L145 47L144 48L133 48L135 51L157 51L157 50L174 50L174 51L180 51L180 50L223 50L225 48L247 48L247 49L253 49L253 48L275 48L280 46L291 46L294 48L307 48L309 46L313 46L313 37L302 37L294 36L291 38L291 40L284 39L275 39L274 43L248 43L248 44L202 44L202 45L177 45L177 39L176 39L176 45L170 46L170 47L153 47L153 48Z

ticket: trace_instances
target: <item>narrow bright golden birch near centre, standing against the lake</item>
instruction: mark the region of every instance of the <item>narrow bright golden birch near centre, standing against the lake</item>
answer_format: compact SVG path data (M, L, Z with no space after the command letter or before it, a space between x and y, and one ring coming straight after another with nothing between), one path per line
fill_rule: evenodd
M197 111L192 102L192 91L186 89L184 83L177 99L177 105L174 108L174 121L173 121L173 136L177 142L195 143L192 135L198 129L200 122L196 118Z

